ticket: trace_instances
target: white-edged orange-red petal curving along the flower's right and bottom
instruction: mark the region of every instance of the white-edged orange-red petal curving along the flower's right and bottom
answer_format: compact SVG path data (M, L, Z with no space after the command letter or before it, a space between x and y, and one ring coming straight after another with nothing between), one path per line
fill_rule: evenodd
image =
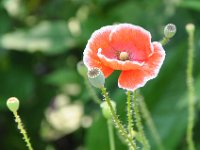
M155 78L163 64L165 51L158 42L153 42L154 53L145 61L145 64L137 70L122 71L118 79L120 88L134 91L143 87L148 80Z

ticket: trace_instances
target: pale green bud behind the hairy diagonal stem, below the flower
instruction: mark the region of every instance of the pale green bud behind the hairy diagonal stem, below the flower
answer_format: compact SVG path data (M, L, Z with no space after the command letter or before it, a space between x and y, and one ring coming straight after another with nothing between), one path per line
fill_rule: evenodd
M112 107L114 110L116 110L116 103L114 101L110 101ZM110 108L108 106L108 103L106 101L101 103L101 108L102 108L102 114L106 119L111 119L112 118L112 113L110 111Z

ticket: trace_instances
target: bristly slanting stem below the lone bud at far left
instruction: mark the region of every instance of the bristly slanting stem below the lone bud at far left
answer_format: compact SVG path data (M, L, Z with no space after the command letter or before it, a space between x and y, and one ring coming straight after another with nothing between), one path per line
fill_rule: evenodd
M18 124L18 129L20 130L20 133L23 135L23 139L26 143L26 146L28 147L28 150L33 150L31 143L30 143L30 139L27 135L26 130L23 127L22 121L21 121L19 115L17 114L17 111L13 112L13 114L14 114L14 117L15 117L15 121Z

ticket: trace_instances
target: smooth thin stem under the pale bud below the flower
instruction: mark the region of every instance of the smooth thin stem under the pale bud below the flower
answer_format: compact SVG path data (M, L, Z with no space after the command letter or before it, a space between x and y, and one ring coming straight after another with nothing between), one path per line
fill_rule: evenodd
M113 125L110 119L107 119L107 125L108 125L109 141L110 141L110 150L115 150L115 138L114 138L114 132L113 132Z

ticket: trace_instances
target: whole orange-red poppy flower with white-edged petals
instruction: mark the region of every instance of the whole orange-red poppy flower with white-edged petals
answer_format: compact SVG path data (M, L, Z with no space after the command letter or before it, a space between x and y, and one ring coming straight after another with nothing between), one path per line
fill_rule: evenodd
M120 88L134 91L158 75L165 58L159 42L151 42L151 34L132 24L104 26L88 40L83 62L90 69L101 69L107 78L121 70Z

